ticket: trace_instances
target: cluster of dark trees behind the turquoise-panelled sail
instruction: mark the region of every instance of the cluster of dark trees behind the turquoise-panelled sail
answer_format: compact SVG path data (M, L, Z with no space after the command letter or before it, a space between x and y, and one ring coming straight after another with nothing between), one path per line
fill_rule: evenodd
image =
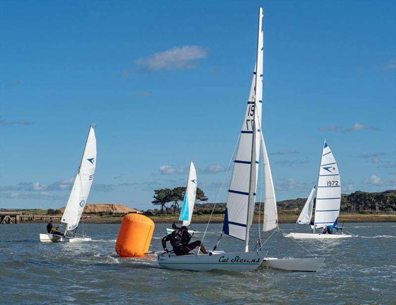
M160 205L161 206L161 214L168 211L168 206L170 202L171 207L173 208L173 214L176 213L176 208L178 212L180 213L180 207L179 207L179 201L183 201L184 199L184 193L186 192L186 187L185 186L178 186L173 189L170 188L161 188L161 189L155 189L154 190L154 195L152 196L154 198L151 203L153 205ZM195 202L197 203L198 201L204 202L207 201L207 197L205 196L205 193L197 187L197 195Z

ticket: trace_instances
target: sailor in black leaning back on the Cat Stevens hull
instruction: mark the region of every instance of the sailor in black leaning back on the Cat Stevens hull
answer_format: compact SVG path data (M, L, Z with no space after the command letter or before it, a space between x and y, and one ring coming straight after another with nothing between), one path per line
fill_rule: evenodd
M189 254L191 250L199 246L200 246L200 252L202 252L203 254L207 254L207 251L205 247L203 247L200 240L197 240L189 244L191 237L192 236L188 232L187 227L183 225L180 229L177 229L172 233L166 235L164 238L162 238L162 247L164 248L164 251L168 253L169 251L168 249L166 249L166 242L170 241L170 244L172 245L173 248L173 252L176 255Z

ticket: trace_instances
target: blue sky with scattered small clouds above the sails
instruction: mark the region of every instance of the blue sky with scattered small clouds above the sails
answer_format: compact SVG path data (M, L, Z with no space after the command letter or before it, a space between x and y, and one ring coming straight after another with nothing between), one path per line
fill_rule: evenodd
M191 158L213 202L258 6L277 199L308 196L324 138L343 193L395 188L395 1L1 1L0 206L64 206L94 122L88 203L151 208L154 188L186 184Z

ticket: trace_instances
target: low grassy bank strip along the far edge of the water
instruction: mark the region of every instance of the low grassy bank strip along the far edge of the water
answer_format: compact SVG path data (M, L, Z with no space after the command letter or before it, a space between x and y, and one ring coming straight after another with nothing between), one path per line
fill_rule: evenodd
M84 218L80 223L121 223L121 217L104 216L104 217L92 217ZM173 221L178 222L178 215L156 215L149 217L155 223L172 223ZM278 215L279 223L296 223L298 215L285 214ZM212 223L222 223L224 215L216 214L212 216L210 222ZM262 217L260 218L262 221ZM194 223L207 223L209 220L209 215L193 215ZM253 218L253 223L258 223L258 217ZM396 222L396 213L380 213L380 214L359 214L359 213L340 213L339 223L345 222ZM56 220L55 220L56 222ZM27 220L21 221L20 223L46 223L44 220Z

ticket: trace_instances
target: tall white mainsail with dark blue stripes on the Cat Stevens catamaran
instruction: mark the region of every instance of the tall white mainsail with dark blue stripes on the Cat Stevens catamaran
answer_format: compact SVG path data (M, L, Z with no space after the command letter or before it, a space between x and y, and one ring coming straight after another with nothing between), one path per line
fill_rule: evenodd
M254 125L254 114L261 119L261 105L262 105L262 76L263 76L263 32L261 29L262 23L262 9L259 11L259 27L258 27L258 41L257 41L257 58L256 65L253 72L253 79L250 86L249 98L247 101L247 109L242 125L241 137L239 140L237 155L234 160L234 170L231 177L230 188L228 190L227 206L225 211L223 232L230 236L246 240L247 213L248 213L248 195L250 182L250 167L251 167L251 153L252 153L252 136ZM256 78L258 79L256 80ZM256 86L259 84L259 86ZM255 132L258 124L255 124ZM255 137L255 158L256 158L256 174L254 181L255 196L257 174L258 174L258 159L260 151L260 137ZM254 210L254 198L253 208ZM249 216L250 218L250 216ZM251 221L249 221L251 222Z

